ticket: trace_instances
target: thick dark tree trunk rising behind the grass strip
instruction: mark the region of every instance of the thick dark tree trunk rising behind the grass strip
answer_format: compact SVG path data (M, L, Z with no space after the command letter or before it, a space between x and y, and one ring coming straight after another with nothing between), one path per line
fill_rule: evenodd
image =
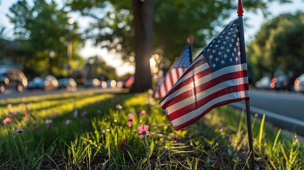
M154 0L132 0L135 25L135 81L131 93L152 88L150 58Z

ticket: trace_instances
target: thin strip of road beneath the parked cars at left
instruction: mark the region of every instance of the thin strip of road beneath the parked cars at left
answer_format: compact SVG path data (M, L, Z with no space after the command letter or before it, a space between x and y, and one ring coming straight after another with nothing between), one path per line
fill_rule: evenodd
M102 88L78 88L76 92L102 92L102 93L121 93L122 88L116 89L102 89ZM61 94L61 93L75 93L75 92L66 92L65 90L53 90L53 91L43 91L43 90L25 90L23 93L17 93L16 90L6 90L4 93L0 93L0 100L14 99L20 97L28 96L41 96L41 95L50 95L50 94Z

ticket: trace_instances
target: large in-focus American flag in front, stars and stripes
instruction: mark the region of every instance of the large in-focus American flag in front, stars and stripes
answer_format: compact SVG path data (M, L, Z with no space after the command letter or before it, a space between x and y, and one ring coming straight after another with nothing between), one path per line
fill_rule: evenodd
M249 100L248 74L236 19L203 49L160 105L181 130L213 108L243 100Z

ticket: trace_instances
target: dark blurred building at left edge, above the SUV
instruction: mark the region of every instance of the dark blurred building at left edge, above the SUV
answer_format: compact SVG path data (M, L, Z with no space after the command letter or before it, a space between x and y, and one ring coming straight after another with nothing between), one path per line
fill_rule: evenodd
M23 70L24 53L16 41L0 38L0 67Z

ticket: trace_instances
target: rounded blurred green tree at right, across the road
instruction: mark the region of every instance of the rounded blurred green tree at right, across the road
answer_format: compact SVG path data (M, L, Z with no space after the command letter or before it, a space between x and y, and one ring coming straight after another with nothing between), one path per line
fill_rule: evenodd
M294 76L304 73L304 13L279 15L256 34L250 45L249 64L255 74L274 72L279 67Z

